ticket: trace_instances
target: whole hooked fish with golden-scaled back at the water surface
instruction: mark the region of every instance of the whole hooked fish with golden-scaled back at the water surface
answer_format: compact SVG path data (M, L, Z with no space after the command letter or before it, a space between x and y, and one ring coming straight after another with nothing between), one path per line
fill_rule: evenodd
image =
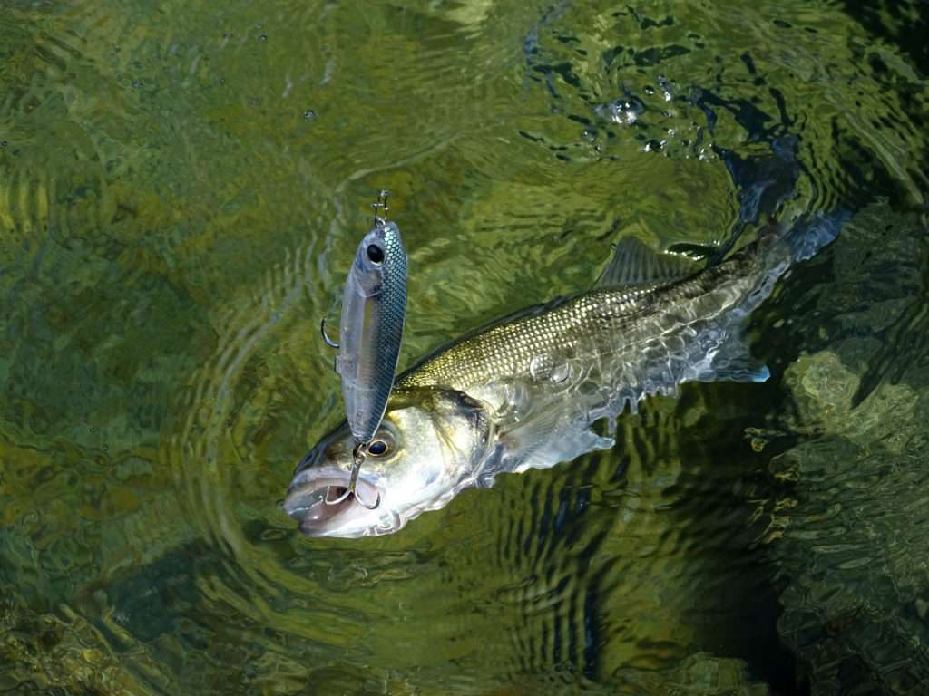
M397 532L502 473L547 469L615 445L616 419L689 381L764 381L747 317L793 264L831 242L842 213L763 226L725 259L700 264L623 238L591 290L520 310L438 348L396 381L374 434L378 454L348 497L352 434L321 438L282 507L310 536Z

